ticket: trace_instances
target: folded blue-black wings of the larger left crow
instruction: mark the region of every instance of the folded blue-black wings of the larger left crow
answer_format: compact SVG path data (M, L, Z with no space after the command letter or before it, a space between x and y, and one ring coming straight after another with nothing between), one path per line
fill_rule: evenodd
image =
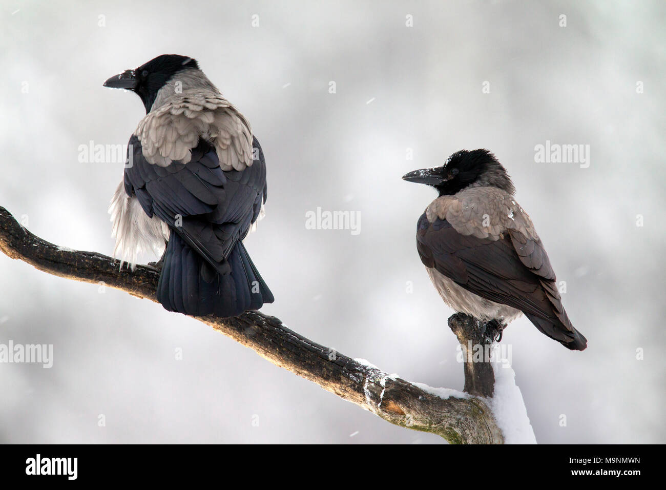
M129 143L133 164L125 169L127 194L135 195L147 215L164 221L216 270L226 271L226 258L266 201L266 162L256 138L252 166L227 172L204 140L192 149L188 163L166 167L146 161L135 135Z

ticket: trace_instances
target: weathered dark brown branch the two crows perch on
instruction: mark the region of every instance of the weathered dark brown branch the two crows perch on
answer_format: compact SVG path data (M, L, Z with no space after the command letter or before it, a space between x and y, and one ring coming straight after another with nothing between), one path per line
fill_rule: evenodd
M27 231L3 207L0 207L0 250L11 259L19 259L49 274L75 281L104 283L136 297L157 301L155 291L159 271L156 269L138 265L134 271L121 270L120 262L106 255L57 247ZM470 317L459 316L449 319L456 335L456 328L464 332L472 325ZM486 392L475 388L480 386L478 383L470 381L472 384L468 386L466 381L470 393L455 392L454 396L444 399L310 341L288 329L276 317L258 311L232 318L208 316L197 319L250 347L273 364L317 383L390 423L435 433L450 443L503 443L501 430L484 399ZM461 335L458 338L463 343L466 338ZM470 375L468 364L466 378Z

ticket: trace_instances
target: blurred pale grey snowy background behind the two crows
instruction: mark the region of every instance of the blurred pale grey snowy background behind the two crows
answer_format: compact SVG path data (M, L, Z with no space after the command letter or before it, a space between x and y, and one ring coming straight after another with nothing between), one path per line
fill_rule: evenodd
M78 148L127 143L144 109L102 83L194 57L266 153L266 218L246 239L276 297L263 311L462 389L452 311L414 239L434 191L400 177L486 147L589 340L567 351L524 318L506 331L537 441L666 442L666 3L3 0L0 15L0 205L36 235L111 254L123 167L81 163ZM589 168L535 163L547 140L589 145ZM306 229L317 207L358 211L360 233ZM4 255L0 275L0 343L54 349L51 369L0 363L3 443L444 443L150 301Z

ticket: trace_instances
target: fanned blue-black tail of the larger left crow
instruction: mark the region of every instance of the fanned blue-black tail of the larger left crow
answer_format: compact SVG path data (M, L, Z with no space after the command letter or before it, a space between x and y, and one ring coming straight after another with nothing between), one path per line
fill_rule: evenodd
M168 311L218 317L235 317L274 301L241 242L236 243L227 260L230 272L218 273L172 231L157 300Z

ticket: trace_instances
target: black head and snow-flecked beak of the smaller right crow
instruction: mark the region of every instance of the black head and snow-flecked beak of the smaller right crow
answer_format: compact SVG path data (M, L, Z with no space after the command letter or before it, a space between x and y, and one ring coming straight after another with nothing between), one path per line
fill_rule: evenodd
M421 169L402 176L408 182L434 187L442 195L454 195L470 185L493 186L513 195L515 189L495 155L485 149L460 150L442 167Z

